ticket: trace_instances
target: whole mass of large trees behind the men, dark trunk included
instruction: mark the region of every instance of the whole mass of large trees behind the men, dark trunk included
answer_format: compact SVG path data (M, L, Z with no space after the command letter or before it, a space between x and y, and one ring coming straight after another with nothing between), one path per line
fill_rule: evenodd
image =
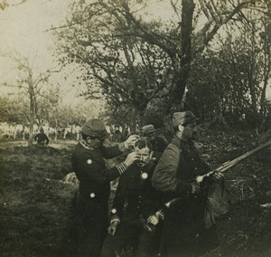
M132 127L192 109L256 129L271 116L270 16L270 0L79 0L55 30L57 55Z

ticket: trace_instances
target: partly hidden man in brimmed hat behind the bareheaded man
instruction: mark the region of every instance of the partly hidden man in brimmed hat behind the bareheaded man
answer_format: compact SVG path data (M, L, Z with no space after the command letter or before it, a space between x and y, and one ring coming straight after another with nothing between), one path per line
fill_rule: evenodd
M142 128L142 134L144 137L148 138L153 145L154 155L153 157L159 160L162 156L164 149L168 146L168 141L163 135L156 135L156 130L153 124L145 125Z

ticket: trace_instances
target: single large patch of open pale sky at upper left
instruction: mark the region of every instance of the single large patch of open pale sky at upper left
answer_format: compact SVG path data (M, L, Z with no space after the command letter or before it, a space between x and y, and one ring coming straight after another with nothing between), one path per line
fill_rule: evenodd
M10 1L14 2L14 1ZM38 68L51 65L52 36L46 30L65 21L70 0L27 0L0 11L0 51L21 52ZM1 71L5 71L1 62ZM2 75L2 74L1 74Z

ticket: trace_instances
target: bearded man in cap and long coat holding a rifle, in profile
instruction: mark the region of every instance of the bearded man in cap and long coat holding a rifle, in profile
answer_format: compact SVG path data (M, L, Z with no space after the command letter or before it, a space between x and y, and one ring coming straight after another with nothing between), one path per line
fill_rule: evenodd
M178 197L165 214L161 256L199 256L219 245L208 195L222 175L208 177L201 186L193 182L210 171L192 142L196 120L192 111L173 114L175 136L154 170L154 188Z

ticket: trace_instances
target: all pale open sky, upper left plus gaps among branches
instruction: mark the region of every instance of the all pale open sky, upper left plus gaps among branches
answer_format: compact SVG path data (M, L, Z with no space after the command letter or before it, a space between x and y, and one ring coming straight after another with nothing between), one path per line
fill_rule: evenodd
M33 62L34 71L37 73L56 68L57 62L52 58L55 45L50 28L65 22L68 6L74 0L26 0L21 5L15 4L22 0L6 1L10 6L5 10L0 9L0 84L16 79L14 62L2 57L3 53L20 52L27 56L30 62ZM148 19L173 17L170 1L157 3L155 0L149 0L146 12ZM54 73L52 80L62 85L64 101L73 102L79 88L71 85L77 84L77 75L74 74L74 77L70 76L69 81L65 81L63 78L67 73L70 71L65 69ZM271 96L271 87L268 90ZM5 91L8 90L0 87L0 93Z

